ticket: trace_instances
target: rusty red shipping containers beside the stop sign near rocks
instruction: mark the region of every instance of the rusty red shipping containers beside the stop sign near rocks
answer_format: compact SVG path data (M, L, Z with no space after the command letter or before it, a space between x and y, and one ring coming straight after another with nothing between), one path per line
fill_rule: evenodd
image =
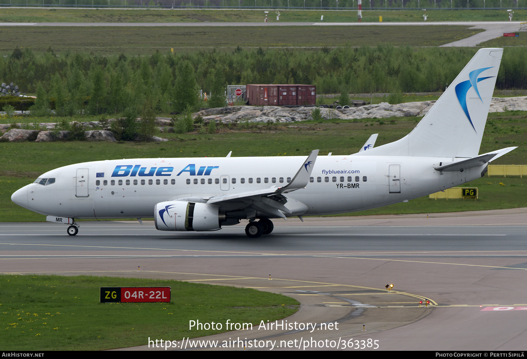
M316 86L313 85L247 85L249 105L315 105Z

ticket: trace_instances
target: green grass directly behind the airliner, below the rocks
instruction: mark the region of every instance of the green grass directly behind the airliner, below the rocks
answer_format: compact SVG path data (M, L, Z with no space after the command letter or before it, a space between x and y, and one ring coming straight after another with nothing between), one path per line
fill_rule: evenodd
M108 143L108 142L19 142L0 143L0 222L44 221L44 216L25 210L11 202L11 194L38 175L50 169L73 163L115 158L156 157L223 157L232 156L290 156L308 155L312 149L320 154L328 152L351 154L374 133L376 145L393 142L412 131L420 117L391 119L328 120L287 124L296 127L257 126L248 128L226 126L214 135L165 133L172 141L165 143ZM527 113L509 111L489 114L480 153L508 146L519 146L497 159L493 164L527 164ZM480 200L428 200L418 198L409 203L377 208L352 215L390 213L433 213L527 205L527 178L484 177L468 186L482 186ZM504 186L499 183L502 182ZM489 184L491 183L491 184ZM519 191L520 190L520 191ZM349 214L348 214L349 215Z

